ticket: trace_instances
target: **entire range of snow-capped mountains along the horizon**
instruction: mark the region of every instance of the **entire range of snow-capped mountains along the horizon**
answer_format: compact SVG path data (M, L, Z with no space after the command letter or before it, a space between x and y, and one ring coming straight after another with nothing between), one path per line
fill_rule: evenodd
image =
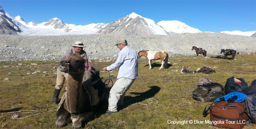
M89 25L65 24L58 18L47 22L25 22L20 16L12 17L0 6L0 35L88 35L88 34L115 34L115 35L170 35L172 33L199 33L200 30L190 27L177 20L160 21L142 17L131 13L112 23L98 23ZM230 35L252 36L256 31L222 31Z

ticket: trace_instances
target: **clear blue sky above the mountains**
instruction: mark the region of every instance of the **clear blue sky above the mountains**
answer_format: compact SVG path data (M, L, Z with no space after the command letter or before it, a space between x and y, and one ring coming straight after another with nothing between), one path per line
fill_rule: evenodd
M256 31L256 0L0 0L12 17L42 23L111 23L136 13L154 20L178 20L200 31Z

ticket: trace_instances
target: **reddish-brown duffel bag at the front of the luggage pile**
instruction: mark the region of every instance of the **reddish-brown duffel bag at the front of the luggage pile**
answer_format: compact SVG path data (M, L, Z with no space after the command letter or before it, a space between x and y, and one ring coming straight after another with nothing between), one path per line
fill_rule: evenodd
M245 109L245 101L232 103L219 101L210 107L210 119L216 127L241 129L249 119Z

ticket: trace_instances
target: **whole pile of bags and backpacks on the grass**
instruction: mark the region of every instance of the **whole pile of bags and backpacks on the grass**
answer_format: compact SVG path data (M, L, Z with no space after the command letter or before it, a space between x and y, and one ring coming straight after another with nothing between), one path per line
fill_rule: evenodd
M202 78L192 97L197 101L212 102L206 105L202 116L210 114L213 126L241 129L256 124L256 79L248 87L243 78L230 77L223 87L211 79Z

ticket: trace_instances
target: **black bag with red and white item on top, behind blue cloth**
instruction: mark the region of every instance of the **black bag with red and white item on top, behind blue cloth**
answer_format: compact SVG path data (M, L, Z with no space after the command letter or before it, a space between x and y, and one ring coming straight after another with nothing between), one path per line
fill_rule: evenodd
M238 80L237 80L238 79ZM237 82L235 82L237 80ZM225 84L225 93L242 92L248 85L243 78L230 77Z

